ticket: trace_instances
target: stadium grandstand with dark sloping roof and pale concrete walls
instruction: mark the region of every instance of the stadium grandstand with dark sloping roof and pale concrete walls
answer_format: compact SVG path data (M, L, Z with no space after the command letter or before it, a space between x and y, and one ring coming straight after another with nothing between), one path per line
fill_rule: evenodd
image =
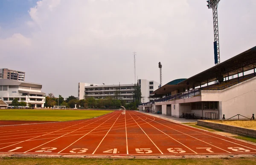
M199 119L256 113L256 46L190 78L170 81L152 92L140 111Z

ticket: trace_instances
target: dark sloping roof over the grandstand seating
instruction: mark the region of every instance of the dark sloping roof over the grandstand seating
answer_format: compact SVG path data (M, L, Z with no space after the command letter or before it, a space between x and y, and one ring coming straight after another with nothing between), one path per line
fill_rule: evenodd
M218 65L215 65L195 76L185 79L176 84L176 89L180 86L185 86L185 88L198 87L200 85L206 84L207 82L215 81L216 79L221 79L223 77L236 75L238 73L245 72L247 70L252 70L256 67L256 46L250 48L249 50L240 53L237 56L232 57ZM175 80L174 80L175 81ZM171 81L172 82L172 81ZM167 84L166 84L167 85ZM174 88L167 88L166 85L152 92L151 97L156 98L158 95L163 96L169 94L171 91L176 90Z

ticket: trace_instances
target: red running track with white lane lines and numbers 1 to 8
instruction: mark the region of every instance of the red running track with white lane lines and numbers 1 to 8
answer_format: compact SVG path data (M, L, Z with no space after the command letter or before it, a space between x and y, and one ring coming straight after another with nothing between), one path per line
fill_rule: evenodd
M0 153L256 154L256 145L136 111L115 111L87 120L0 126Z

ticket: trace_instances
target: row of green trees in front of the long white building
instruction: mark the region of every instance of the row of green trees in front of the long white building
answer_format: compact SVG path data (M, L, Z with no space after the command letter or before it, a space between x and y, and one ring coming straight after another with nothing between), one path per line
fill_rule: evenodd
M55 98L52 93L49 93L45 98L45 106L66 106L68 108L76 107L81 108L106 108L106 109L118 109L120 106L124 106L126 109L137 109L141 99L140 87L137 84L134 90L134 100L131 103L126 103L125 100L120 100L118 98L107 97L105 99L95 99L93 97L84 96L84 99L78 100L75 96L69 96L66 100L59 95Z

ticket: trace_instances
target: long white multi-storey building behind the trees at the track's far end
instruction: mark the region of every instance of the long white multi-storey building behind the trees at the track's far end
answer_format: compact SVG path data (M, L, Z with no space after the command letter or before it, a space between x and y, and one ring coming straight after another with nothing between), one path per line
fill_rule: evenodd
M112 97L119 100L125 100L127 103L134 101L134 84L118 84L118 85L97 85L80 82L78 98L93 97L102 99Z

